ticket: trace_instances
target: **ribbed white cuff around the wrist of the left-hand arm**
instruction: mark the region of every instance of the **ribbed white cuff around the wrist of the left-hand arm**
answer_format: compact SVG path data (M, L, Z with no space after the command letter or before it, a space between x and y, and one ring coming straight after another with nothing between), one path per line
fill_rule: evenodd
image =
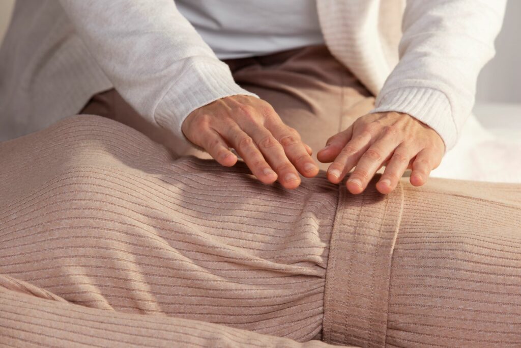
M193 146L181 131L184 119L198 107L237 94L258 98L258 95L235 83L226 63L193 62L158 103L154 118L157 124L170 130L176 138Z

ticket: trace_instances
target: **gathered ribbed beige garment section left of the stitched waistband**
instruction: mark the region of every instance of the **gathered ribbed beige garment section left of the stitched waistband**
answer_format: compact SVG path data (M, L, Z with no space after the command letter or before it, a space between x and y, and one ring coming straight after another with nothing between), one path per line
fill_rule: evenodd
M338 188L259 185L97 116L0 144L0 273L42 297L320 333ZM27 287L26 287L27 288Z

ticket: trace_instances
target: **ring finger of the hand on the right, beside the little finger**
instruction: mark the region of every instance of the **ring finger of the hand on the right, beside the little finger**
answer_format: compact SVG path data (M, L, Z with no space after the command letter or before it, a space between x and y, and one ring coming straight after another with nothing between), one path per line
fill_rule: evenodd
M383 171L382 176L378 183L376 183L376 189L382 194L388 194L396 188L403 173L407 170L407 167L411 163L411 159L414 158L416 153L411 151L405 145L400 145L389 160L386 169Z

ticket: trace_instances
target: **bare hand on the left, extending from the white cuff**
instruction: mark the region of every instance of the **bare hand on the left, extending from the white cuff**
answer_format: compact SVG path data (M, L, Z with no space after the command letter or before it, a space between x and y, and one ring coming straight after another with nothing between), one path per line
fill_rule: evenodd
M235 149L265 184L279 178L282 186L296 188L301 182L299 172L305 177L318 174L311 148L262 99L249 95L218 99L192 111L181 130L222 165L237 162L237 156L230 151Z

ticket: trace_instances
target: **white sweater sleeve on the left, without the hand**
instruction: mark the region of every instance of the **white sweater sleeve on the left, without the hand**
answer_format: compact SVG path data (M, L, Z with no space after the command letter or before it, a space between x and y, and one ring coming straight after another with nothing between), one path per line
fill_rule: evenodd
M197 107L235 94L233 80L172 0L61 0L78 34L121 96L143 117L184 139ZM257 97L258 98L258 97Z

